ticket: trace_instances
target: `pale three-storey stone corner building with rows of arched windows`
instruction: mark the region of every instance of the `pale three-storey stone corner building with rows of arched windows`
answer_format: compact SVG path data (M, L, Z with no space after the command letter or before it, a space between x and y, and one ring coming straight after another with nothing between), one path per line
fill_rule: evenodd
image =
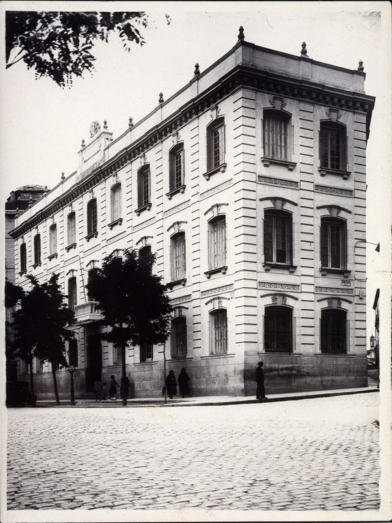
M124 247L156 253L175 307L167 367L193 394L366 386L365 73L244 40L113 139L93 122L65 177L16 220L16 280L60 272L75 310L75 388L120 376L99 342L89 273ZM26 253L26 256L25 254ZM26 260L24 262L24 260ZM135 397L157 396L163 346L127 349ZM52 391L37 362L41 397ZM23 369L20 379L26 379ZM68 374L57 381L68 392Z

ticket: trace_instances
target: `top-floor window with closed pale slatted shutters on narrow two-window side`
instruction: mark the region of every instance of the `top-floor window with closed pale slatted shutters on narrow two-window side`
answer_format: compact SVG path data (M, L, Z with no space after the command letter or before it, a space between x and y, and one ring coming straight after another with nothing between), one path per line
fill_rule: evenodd
M275 110L263 112L264 157L287 162L289 155L290 116Z

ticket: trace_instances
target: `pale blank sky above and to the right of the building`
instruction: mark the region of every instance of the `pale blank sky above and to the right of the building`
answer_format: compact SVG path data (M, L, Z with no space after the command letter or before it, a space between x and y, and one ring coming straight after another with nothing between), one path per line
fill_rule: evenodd
M91 5L2 2L0 9L91 10ZM367 245L370 336L375 290L390 285L390 4L94 2L94 9L145 10L149 15L148 27L143 29L146 44L135 44L127 53L117 35L111 35L109 43L98 42L93 49L94 73L75 79L71 89L62 89L50 78L34 79L33 70L28 71L22 61L7 71L3 66L0 201L22 185L54 187L62 172L67 176L76 169L77 151L82 139L88 141L93 120L102 125L106 119L116 138L128 127L130 117L135 123L158 105L161 91L167 99L186 85L196 62L203 71L232 48L240 25L245 40L259 46L299 56L305 41L308 56L314 60L348 69L356 69L362 60L366 93L376 96L367 149L367 241L382 242L380 254L375 246Z

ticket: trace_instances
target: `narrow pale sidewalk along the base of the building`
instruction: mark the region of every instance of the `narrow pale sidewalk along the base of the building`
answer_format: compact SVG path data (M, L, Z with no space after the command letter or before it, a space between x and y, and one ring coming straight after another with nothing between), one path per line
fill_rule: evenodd
M307 391L307 392L285 392L283 394L268 394L268 399L260 402L255 396L196 396L185 399L178 397L170 400L160 397L132 398L127 400L128 407L185 407L185 406L209 406L209 405L243 405L245 403L273 403L276 401L295 401L308 400L316 397L343 396L348 394L364 394L369 392L378 392L377 383L370 383L367 387L357 389L334 389L324 391ZM122 400L98 401L85 398L76 398L75 407L82 408L105 408L105 407L122 407ZM57 407L55 401L37 401L37 407ZM71 407L69 400L61 400L59 407Z

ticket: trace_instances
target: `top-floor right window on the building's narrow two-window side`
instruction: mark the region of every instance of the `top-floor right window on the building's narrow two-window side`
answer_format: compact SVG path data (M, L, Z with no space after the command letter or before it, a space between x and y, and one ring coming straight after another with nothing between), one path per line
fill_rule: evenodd
M326 169L346 170L347 147L345 127L338 123L320 124L320 165Z

